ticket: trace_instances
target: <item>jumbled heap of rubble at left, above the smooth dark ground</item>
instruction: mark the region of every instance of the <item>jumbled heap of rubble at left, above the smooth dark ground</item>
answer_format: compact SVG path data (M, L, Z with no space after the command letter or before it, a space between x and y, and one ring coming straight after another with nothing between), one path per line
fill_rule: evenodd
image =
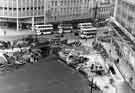
M41 58L41 50L34 38L0 42L0 69L5 71L16 65L35 63Z

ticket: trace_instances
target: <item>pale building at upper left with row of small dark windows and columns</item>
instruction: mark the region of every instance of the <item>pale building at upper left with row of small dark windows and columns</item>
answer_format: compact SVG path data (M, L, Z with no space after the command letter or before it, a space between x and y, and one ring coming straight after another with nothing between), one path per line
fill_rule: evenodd
M45 0L0 0L0 23L17 28L35 23L43 23ZM42 21L42 22L41 22Z

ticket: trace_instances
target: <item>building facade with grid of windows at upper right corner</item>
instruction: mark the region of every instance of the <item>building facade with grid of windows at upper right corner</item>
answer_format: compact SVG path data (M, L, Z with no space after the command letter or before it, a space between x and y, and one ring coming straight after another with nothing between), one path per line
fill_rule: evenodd
M116 20L135 36L135 0L118 0Z

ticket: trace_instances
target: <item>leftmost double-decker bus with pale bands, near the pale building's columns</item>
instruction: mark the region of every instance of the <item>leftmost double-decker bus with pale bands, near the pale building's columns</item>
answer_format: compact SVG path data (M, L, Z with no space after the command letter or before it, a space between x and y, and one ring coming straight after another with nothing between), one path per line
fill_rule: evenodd
M35 25L34 30L36 31L37 35L52 34L53 25L52 24Z

